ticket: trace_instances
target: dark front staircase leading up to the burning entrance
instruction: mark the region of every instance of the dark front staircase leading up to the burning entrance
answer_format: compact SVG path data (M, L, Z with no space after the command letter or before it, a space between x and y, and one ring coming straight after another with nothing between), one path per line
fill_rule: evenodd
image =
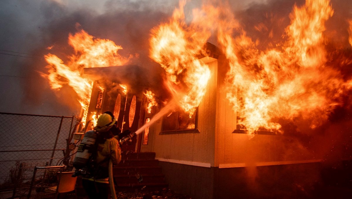
M113 168L116 191L156 191L167 188L165 175L155 153L122 153L121 162Z

